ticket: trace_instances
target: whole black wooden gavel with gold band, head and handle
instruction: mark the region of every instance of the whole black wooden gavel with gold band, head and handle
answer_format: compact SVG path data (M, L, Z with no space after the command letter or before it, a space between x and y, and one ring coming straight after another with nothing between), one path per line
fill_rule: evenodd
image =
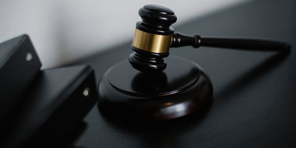
M246 49L254 51L286 51L290 45L286 42L251 39L188 36L174 33L170 27L177 21L174 12L159 5L145 5L139 9L142 21L136 23L136 31L129 56L131 65L146 73L159 73L166 68L163 58L168 57L170 47L200 46Z

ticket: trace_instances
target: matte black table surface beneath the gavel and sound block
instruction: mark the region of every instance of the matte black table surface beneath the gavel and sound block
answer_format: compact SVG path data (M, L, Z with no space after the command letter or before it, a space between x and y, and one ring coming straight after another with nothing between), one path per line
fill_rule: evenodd
M296 1L260 0L178 23L175 31L203 36L274 38L292 45L288 55L181 47L170 55L190 59L208 73L213 102L184 118L156 123L116 120L95 105L73 147L295 147ZM128 60L132 40L73 64L91 63L97 81Z

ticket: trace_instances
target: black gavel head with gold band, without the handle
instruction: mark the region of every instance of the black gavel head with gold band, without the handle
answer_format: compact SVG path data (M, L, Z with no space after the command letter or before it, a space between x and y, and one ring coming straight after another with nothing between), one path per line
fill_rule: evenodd
M142 72L157 73L166 67L163 59L168 57L176 22L174 12L159 5L145 5L139 9L142 21L136 23L135 36L129 56L131 65Z

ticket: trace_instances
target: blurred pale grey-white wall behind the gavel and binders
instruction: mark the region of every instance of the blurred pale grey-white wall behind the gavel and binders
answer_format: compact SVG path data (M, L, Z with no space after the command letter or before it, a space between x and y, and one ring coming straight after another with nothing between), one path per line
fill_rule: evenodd
M172 9L181 24L242 1L0 0L0 42L28 34L44 69L132 40L145 4Z

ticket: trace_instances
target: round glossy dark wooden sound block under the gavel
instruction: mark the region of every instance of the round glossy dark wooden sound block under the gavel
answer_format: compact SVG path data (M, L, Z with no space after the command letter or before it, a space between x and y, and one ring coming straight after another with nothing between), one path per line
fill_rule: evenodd
M142 73L128 59L111 67L99 82L99 109L118 117L144 120L178 118L212 101L213 87L202 68L170 56L161 73Z

